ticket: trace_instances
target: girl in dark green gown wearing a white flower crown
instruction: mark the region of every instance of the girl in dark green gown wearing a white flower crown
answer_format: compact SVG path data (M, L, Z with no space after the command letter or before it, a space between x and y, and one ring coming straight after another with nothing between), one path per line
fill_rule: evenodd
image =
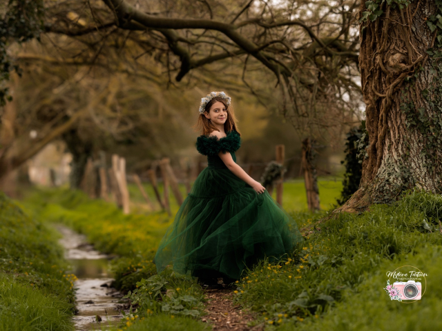
M157 272L172 264L181 274L216 288L240 279L244 268L276 261L302 241L296 222L236 163L241 134L224 92L202 98L195 146L208 166L193 183L155 255Z

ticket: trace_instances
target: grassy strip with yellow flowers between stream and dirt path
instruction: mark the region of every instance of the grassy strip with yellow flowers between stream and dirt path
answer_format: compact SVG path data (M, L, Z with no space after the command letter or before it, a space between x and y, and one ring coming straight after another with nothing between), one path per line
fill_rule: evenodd
M165 212L124 215L115 205L91 200L84 192L72 190L38 190L27 197L25 205L32 208L39 219L63 222L86 234L98 250L118 255L111 262L115 277L112 285L128 292L126 298L135 308L124 317L126 326L135 328L138 323L145 323L142 319L159 314L166 314L169 319L202 314L204 296L196 279L180 277L169 270L161 276L156 274L152 262L155 248L171 221ZM195 330L204 328L199 325Z

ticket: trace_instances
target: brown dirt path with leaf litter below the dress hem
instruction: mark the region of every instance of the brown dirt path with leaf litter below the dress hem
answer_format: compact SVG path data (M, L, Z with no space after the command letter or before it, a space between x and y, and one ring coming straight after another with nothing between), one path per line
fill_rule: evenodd
M250 312L242 311L240 305L234 305L233 295L235 294L231 289L207 290L207 315L202 317L202 321L211 323L213 330L216 331L261 331L263 325L247 326L247 323L253 321L254 316Z

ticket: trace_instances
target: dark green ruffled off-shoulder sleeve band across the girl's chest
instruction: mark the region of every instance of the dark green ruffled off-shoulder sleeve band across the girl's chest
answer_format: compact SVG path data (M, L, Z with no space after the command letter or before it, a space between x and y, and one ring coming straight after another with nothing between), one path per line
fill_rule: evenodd
M219 152L236 152L241 146L241 137L236 131L229 132L226 137L201 135L196 139L196 149L203 155L218 155Z

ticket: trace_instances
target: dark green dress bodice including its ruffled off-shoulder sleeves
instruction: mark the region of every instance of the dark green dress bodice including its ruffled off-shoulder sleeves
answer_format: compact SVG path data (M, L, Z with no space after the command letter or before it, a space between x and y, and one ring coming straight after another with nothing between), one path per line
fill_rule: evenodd
M196 149L200 154L207 156L207 168L211 169L227 169L222 159L218 156L219 152L224 154L230 152L233 161L236 163L235 152L241 146L240 134L235 130L227 132L226 137L218 139L218 137L202 134L197 138L195 143Z

